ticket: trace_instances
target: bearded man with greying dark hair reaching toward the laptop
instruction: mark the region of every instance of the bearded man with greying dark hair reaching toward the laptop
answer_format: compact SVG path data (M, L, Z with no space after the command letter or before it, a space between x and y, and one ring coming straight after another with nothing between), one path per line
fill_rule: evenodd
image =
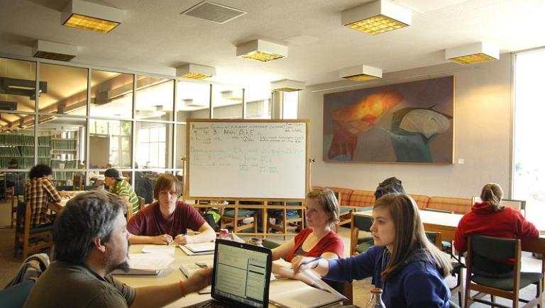
M111 276L128 269L123 199L105 191L68 201L53 226L55 261L40 276L24 307L163 307L211 283L211 269L170 285L132 288Z

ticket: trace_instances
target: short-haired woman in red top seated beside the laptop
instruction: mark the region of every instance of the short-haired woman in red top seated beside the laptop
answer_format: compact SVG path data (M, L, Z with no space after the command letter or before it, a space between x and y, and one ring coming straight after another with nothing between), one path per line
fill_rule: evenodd
M307 193L304 215L307 228L291 241L272 249L272 260L284 258L290 262L301 256L336 259L343 256L343 240L333 230L338 223L338 201L328 188Z

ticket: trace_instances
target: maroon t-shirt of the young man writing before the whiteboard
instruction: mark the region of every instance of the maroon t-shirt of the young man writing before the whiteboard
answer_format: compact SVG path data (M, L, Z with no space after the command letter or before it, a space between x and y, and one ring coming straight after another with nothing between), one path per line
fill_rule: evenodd
M128 221L127 230L134 235L156 236L169 234L172 237L185 234L187 229L197 231L204 219L197 210L187 203L178 201L172 214L163 218L158 202L140 210Z

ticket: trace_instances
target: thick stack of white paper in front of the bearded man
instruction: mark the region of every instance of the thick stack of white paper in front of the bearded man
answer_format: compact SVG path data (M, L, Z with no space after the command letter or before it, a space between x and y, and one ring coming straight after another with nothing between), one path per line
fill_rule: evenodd
M128 272L114 270L113 275L158 275L174 258L167 253L129 253Z

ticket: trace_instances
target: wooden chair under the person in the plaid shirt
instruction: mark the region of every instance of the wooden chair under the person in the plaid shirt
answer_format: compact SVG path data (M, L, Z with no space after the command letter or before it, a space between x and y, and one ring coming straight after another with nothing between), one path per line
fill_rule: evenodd
M13 256L17 256L17 249L22 249L23 259L26 259L31 251L45 248L53 250L53 226L31 228L31 206L25 202L19 202L17 205L14 246Z

